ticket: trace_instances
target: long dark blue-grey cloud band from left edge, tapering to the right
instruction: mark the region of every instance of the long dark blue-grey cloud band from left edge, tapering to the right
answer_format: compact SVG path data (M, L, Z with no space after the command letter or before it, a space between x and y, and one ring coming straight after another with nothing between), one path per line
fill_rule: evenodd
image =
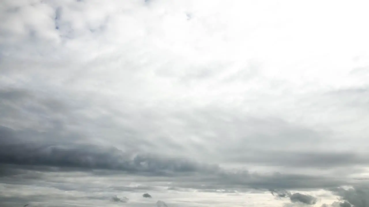
M0 163L8 164L7 167L10 168L13 167L12 165L24 166L24 168L31 165L58 167L59 170L66 168L69 171L106 169L114 170L115 172L112 173L118 171L146 176L167 176L173 179L176 187L195 189L217 189L230 186L256 189L299 189L338 187L349 184L349 182L327 176L293 173L270 175L237 169L230 170L190 159L161 157L155 154L131 154L114 147L93 144L24 142L22 138L24 133L26 132L4 127L0 130L2 135ZM35 136L37 135L36 133ZM43 135L39 134L38 137ZM12 171L4 170L4 173L12 173ZM206 185L203 186L203 184Z

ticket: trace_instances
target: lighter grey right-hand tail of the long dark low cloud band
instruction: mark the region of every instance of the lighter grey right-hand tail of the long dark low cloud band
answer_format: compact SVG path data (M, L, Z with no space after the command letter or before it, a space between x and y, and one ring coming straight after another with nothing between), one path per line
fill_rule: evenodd
M325 189L347 185L345 179L330 176L309 176L296 174L263 175L262 173L223 171L214 175L197 175L194 178L178 178L175 187L194 189Z

